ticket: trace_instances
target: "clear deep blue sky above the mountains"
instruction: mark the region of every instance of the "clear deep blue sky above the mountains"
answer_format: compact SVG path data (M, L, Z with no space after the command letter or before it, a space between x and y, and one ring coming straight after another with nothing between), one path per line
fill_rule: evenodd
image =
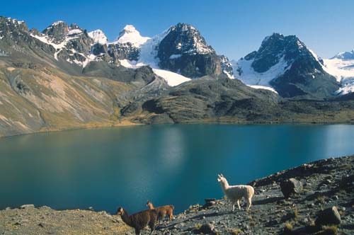
M239 59L257 50L273 32L297 35L319 56L354 48L354 1L179 0L179 1L6 1L0 15L43 30L54 21L102 29L113 40L127 24L144 36L178 22L194 25L219 54Z

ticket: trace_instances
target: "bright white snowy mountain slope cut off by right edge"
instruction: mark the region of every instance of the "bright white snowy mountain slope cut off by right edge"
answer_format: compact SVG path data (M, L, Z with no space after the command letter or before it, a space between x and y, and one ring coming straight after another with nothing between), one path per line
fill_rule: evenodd
M339 95L354 92L354 50L340 52L331 59L324 59L326 71L341 82Z

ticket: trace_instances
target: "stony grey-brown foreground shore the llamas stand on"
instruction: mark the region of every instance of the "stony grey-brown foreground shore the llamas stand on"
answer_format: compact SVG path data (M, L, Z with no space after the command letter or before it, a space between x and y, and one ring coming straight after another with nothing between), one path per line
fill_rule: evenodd
M227 200L206 200L165 221L156 234L354 234L354 156L324 159L254 180L249 212L231 212ZM302 190L283 196L280 183L295 178ZM283 185L283 184L282 184ZM207 196L207 195L205 195ZM326 224L322 210L335 206ZM339 219L340 218L340 219ZM321 225L319 225L321 224ZM52 210L25 205L0 211L0 234L134 234L120 217L89 210ZM148 234L148 230L144 231Z

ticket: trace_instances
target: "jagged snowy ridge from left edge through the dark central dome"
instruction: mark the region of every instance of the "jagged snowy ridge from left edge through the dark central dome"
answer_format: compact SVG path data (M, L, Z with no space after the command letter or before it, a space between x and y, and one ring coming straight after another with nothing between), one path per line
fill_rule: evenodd
M6 18L2 18L2 21L17 25L3 30L4 32L18 32L15 37L17 40L20 36L25 37L23 40L26 43L31 41L29 45L41 48L45 56L59 63L59 67L72 70L72 65L77 67L74 69L76 72L80 68L84 69L90 62L105 62L130 69L150 66L170 86L176 86L200 76L218 76L222 73L223 63L225 73L232 76L227 58L219 58L200 32L188 24L178 23L152 38L142 36L133 25L126 25L118 37L109 42L102 30L88 33L79 25L68 25L64 21L52 23L41 33L35 29L28 30L25 23L18 26L22 22ZM16 42L8 42L9 46L13 44ZM33 47L31 51L37 53L36 50ZM90 67L93 68L101 67Z

